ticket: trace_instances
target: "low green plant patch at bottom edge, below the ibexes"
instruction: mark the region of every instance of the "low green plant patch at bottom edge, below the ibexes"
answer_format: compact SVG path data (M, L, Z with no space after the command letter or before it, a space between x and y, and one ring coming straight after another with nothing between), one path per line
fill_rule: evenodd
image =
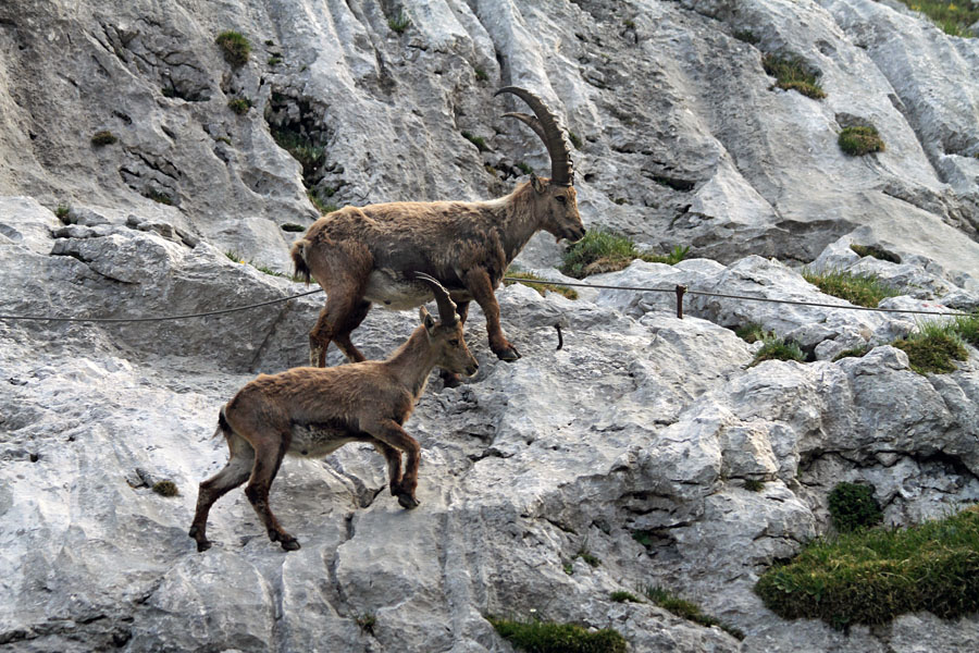
M625 653L625 638L611 628L591 632L577 624L487 620L516 649L530 653Z

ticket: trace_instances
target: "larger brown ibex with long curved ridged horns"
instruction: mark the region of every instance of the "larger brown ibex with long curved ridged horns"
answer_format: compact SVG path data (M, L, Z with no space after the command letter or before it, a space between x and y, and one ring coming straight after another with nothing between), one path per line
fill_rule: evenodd
M523 99L536 118L506 113L529 125L550 155L552 177L531 180L510 195L490 201L396 201L346 207L317 220L293 245L296 273L313 276L326 291L326 306L309 334L310 365L323 367L333 341L349 360L363 360L350 342L371 303L401 310L431 298L410 283L418 270L437 279L459 304L466 321L475 299L486 316L490 347L503 360L520 354L499 326L494 289L526 242L545 230L558 241L579 241L585 230L578 214L571 152L557 118L541 99L516 86L496 91ZM455 384L451 374L446 382Z

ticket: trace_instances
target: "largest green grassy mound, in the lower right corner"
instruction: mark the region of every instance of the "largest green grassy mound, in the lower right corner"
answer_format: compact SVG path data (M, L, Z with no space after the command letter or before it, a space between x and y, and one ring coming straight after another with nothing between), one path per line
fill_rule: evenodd
M786 619L838 629L928 611L951 619L979 611L979 508L905 529L875 527L810 542L755 586Z

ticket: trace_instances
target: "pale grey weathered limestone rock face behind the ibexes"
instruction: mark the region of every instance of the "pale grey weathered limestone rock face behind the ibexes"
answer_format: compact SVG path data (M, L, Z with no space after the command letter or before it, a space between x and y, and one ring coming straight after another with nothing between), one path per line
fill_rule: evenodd
M214 42L226 29L251 45L244 65ZM773 88L766 53L818 70L827 97ZM3 3L0 313L263 306L0 319L0 643L510 651L498 615L616 628L636 652L975 648L975 618L843 633L776 617L752 587L831 530L840 481L872 483L895 525L979 500L979 352L919 375L888 343L920 318L850 310L798 271L872 272L897 310L979 306L977 59L975 40L870 0ZM235 491L198 554L196 486L226 460L218 410L307 360L322 294L283 300L308 288L269 273L317 217L308 194L509 192L548 161L500 116L505 84L573 133L586 225L691 258L594 279L668 293L500 288L516 364L488 352L473 307L479 375L433 378L407 424L418 509L351 444L282 467L272 503L300 551L270 543ZM887 149L843 155L840 130L864 123ZM558 252L538 236L520 262L560 279ZM748 367L756 346L732 332L748 322L811 362ZM416 323L375 310L355 337L382 358ZM610 599L657 586L745 639Z

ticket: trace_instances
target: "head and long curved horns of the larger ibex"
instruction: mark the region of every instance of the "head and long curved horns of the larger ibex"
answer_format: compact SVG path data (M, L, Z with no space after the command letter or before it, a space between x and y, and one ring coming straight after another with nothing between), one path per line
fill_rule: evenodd
M518 86L505 86L494 95L510 93L533 109L534 115L526 113L505 113L528 125L541 137L550 155L550 178L540 178L531 174L531 184L536 194L535 204L543 217L542 226L558 241L567 238L574 243L585 235L581 215L578 213L578 194L574 190L574 170L571 161L571 146L565 132L558 125L557 116L531 91ZM543 205L543 206L542 206Z

